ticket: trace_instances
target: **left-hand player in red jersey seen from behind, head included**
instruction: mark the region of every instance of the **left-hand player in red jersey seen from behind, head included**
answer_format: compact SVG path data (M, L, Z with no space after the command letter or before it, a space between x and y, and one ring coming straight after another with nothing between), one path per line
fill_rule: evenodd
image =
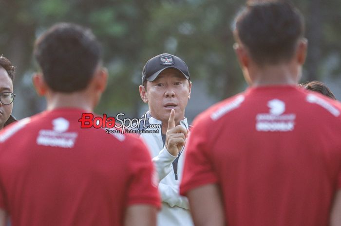
M89 29L61 23L41 35L33 78L47 110L0 133L0 225L155 226L160 200L140 139L81 129L107 84Z

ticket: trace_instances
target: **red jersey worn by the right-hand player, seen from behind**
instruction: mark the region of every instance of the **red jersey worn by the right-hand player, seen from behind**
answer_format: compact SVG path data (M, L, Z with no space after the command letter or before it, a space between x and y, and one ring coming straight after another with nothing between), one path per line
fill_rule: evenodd
M194 122L181 194L217 183L229 226L327 226L341 189L341 105L293 86L249 88Z

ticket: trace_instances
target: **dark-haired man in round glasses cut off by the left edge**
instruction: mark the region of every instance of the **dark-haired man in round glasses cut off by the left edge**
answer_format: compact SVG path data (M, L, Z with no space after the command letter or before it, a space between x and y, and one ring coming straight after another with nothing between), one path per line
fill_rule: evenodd
M15 67L4 56L0 56L0 130L17 120L11 115L15 94L13 79Z

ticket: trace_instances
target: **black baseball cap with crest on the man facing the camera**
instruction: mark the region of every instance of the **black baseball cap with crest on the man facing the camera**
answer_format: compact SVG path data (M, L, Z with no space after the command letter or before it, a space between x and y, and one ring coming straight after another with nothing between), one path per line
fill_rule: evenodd
M179 70L189 80L188 67L182 59L169 53L162 53L148 60L142 71L142 84L145 80L154 81L165 69Z

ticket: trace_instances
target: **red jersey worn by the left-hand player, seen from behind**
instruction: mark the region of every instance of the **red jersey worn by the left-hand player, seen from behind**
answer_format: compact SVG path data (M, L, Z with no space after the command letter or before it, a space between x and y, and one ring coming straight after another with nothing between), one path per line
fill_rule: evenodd
M160 207L138 138L80 129L83 110L56 109L0 133L0 208L12 226L121 226L134 204Z

